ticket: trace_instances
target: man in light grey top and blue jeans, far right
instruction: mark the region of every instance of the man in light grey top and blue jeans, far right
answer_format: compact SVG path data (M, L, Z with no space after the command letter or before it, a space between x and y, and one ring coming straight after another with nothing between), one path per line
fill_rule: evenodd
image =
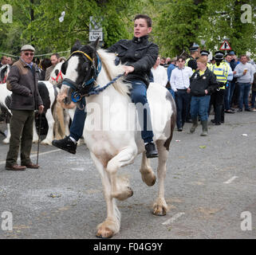
M239 63L234 69L234 77L238 78L239 86L239 109L242 112L242 106L245 104L245 111L250 112L249 108L249 93L250 86L254 81L254 68L250 63L247 63L246 55L240 57Z

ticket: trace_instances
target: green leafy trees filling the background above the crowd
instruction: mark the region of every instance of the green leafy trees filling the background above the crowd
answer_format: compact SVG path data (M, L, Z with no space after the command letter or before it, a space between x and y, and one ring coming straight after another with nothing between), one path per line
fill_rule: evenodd
M11 24L0 21L0 52L18 55L20 46L29 43L44 54L68 50L76 39L88 43L90 16L102 18L107 48L132 38L133 18L141 13L152 17L152 40L163 56L188 52L202 41L202 48L215 51L224 38L236 53L256 55L255 0L0 0L0 6L6 3L14 16ZM250 23L241 21L243 4L251 6ZM62 11L65 18L59 22Z

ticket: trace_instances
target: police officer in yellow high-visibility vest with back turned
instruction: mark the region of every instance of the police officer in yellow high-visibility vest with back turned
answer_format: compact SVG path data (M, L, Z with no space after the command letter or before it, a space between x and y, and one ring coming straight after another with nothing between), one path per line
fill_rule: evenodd
M217 82L219 83L219 88L211 95L211 104L214 105L215 108L215 119L211 120L215 125L220 125L224 122L224 92L226 88L227 77L229 73L230 66L226 65L223 62L224 54L221 51L217 51L215 53L215 64L211 65L211 72L215 73Z

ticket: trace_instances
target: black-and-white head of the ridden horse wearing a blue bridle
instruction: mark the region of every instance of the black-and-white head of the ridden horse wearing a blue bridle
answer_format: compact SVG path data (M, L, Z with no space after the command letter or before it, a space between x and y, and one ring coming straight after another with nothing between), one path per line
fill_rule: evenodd
M95 86L99 73L99 57L96 48L99 39L89 45L81 45L76 41L71 49L71 55L61 65L61 73L65 75L62 82L58 101L64 108L73 108L74 102L81 100L81 96L88 94Z

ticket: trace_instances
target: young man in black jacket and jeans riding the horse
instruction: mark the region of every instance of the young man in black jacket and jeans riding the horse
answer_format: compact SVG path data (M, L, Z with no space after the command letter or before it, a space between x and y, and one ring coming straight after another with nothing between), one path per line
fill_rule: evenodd
M143 104L142 114L138 111L141 137L144 139L148 158L158 157L153 143L152 120L147 100L147 88L152 66L156 63L158 46L148 41L152 32L152 19L147 15L136 15L134 18L134 37L132 40L120 40L108 48L109 53L116 53L124 65L124 81L132 84L131 97L134 104ZM137 108L138 110L138 108ZM86 112L77 108L70 127L70 135L65 139L53 140L55 147L75 154L77 140L81 138L85 125Z

